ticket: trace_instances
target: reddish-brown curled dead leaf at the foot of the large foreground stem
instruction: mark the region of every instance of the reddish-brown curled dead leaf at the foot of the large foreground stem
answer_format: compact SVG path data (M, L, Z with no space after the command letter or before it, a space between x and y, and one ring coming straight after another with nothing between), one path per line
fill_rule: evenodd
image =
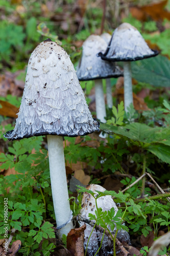
M67 235L67 248L73 256L84 256L84 230L86 224L71 229Z

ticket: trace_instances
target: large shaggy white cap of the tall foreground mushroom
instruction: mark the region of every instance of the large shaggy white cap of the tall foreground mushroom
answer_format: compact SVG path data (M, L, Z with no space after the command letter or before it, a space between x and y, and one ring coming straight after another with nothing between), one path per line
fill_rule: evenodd
M74 66L66 51L51 39L31 54L15 128L5 138L40 135L83 136L99 131Z

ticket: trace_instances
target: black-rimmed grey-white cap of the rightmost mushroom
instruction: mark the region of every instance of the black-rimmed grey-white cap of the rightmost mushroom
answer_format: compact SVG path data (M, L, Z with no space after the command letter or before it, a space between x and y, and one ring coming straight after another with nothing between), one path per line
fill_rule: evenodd
M111 61L133 61L158 55L158 51L151 50L139 31L129 23L123 23L115 29L109 46L99 56Z

